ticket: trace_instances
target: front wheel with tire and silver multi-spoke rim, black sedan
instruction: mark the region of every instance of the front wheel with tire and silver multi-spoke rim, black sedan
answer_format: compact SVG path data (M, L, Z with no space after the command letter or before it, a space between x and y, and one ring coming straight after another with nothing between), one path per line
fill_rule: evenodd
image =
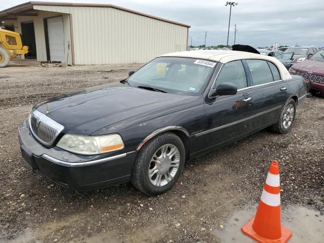
M185 148L174 133L159 134L139 151L131 182L147 195L168 191L179 179L185 163Z

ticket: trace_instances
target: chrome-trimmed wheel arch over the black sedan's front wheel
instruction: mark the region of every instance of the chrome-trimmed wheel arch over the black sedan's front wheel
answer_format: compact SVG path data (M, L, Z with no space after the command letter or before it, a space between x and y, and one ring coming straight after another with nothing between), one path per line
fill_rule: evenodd
M158 134L165 133L165 132L171 132L177 135L181 141L183 142L185 151L186 151L186 159L189 158L189 148L190 148L190 141L189 141L189 133L188 131L180 126L167 126L163 128L159 128L155 130L154 132L150 133L148 136L146 136L142 142L136 147L136 150L140 150L144 144L146 144L149 140L151 140L153 137L155 137Z

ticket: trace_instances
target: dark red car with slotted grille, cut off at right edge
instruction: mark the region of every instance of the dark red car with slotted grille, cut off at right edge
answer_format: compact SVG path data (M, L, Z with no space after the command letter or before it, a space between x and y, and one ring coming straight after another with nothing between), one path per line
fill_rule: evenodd
M302 76L308 83L311 94L320 94L324 97L324 49L305 61L291 66L289 72Z

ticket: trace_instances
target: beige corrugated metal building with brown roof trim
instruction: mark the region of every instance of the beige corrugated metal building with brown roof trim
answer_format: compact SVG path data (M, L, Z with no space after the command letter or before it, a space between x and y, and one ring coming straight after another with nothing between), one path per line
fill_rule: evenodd
M145 63L185 51L189 25L104 4L28 2L0 12L29 57L66 64Z

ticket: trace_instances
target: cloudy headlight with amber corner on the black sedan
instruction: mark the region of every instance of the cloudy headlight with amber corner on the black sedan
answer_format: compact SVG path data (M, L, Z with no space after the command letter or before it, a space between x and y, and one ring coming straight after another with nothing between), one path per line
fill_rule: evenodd
M65 134L56 146L72 153L93 155L123 149L124 142L118 134L98 137Z

